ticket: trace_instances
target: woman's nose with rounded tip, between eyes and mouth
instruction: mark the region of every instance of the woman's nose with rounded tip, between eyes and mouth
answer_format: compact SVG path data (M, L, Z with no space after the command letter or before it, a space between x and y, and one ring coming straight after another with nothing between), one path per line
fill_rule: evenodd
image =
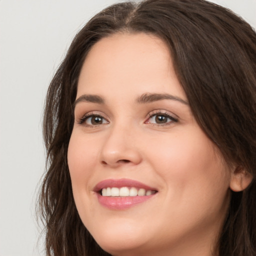
M100 152L103 165L116 168L120 165L136 165L141 161L139 135L130 127L115 125L108 130Z

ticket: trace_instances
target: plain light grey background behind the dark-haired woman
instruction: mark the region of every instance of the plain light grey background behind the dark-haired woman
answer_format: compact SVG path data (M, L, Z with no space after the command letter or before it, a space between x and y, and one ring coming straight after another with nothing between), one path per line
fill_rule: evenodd
M256 27L256 0L212 1ZM0 256L44 255L34 211L44 96L77 30L113 2L0 0Z

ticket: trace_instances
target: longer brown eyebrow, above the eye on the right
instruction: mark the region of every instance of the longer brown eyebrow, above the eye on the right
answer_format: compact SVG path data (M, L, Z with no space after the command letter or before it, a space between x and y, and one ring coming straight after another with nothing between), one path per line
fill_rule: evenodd
M188 105L188 102L180 97L167 94L167 93L143 93L139 97L136 98L135 102L138 104L143 104L143 103L150 103L162 99L171 99L171 100L176 100L179 101L185 105Z

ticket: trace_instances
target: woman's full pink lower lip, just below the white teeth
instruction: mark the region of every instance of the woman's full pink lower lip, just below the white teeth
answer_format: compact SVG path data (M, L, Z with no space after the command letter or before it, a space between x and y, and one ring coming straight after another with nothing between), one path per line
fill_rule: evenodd
M126 209L132 207L138 203L142 203L150 199L151 195L144 195L144 196L102 196L101 194L97 193L98 201L101 205L109 208L109 209Z

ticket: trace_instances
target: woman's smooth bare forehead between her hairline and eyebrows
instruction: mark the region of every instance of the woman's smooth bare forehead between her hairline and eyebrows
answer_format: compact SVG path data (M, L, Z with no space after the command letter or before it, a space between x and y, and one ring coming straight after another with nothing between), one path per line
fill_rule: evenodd
M175 87L175 94L185 98L169 49L160 38L145 33L116 33L92 46L80 72L77 95L127 87L138 94L145 90L164 93Z

